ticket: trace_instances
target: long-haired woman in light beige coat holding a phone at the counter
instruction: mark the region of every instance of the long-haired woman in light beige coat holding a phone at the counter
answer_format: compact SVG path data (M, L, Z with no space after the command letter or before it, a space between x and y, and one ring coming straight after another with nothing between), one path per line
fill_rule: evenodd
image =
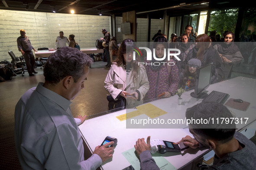
M123 40L118 58L112 64L104 82L104 87L110 93L113 101L119 103L113 105L112 102L113 108L124 106L120 104L121 101L126 102L127 107L142 104L143 98L149 90L146 69L144 66L138 65L138 57L133 61L133 51L130 50L132 46L134 46L132 39ZM130 94L130 96L126 94ZM109 100L109 109L111 110L113 108L110 103Z

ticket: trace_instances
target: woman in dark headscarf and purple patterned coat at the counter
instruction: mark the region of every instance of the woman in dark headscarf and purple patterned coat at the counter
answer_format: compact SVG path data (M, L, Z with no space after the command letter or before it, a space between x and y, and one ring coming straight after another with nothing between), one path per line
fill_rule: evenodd
M173 60L168 61L168 41L163 36L158 36L154 40L153 48L155 49L155 55L157 58L163 58L165 60L159 62L152 56L152 60L145 60L146 72L149 79L149 91L147 92L144 101L156 100L159 97L169 98L175 94L178 87L178 67ZM154 51L154 50L153 50ZM169 63L170 62L170 63ZM169 64L167 64L169 63Z

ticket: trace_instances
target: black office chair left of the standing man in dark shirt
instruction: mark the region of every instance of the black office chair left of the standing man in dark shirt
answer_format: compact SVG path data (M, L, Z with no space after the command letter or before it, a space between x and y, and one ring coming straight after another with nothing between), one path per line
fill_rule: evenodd
M16 57L15 54L13 53L12 50L8 51L8 54L10 54L11 58L12 58L12 69L16 74L21 73L22 76L24 76L23 74L25 73L26 70L26 62L23 61L23 56L20 57Z

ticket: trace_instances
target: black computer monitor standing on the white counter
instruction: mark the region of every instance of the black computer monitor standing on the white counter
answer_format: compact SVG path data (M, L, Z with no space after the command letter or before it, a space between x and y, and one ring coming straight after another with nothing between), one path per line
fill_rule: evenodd
M190 95L193 98L206 98L207 93L204 91L211 85L211 69L213 63L202 66L197 70L197 76L195 80L194 92Z

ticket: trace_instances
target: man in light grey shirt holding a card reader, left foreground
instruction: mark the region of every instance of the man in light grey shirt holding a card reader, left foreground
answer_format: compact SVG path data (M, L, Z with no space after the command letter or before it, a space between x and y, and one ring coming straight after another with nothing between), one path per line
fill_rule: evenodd
M39 82L15 108L15 144L24 170L95 170L113 155L109 142L84 161L84 146L69 105L84 88L92 60L77 48L62 47L44 66Z

